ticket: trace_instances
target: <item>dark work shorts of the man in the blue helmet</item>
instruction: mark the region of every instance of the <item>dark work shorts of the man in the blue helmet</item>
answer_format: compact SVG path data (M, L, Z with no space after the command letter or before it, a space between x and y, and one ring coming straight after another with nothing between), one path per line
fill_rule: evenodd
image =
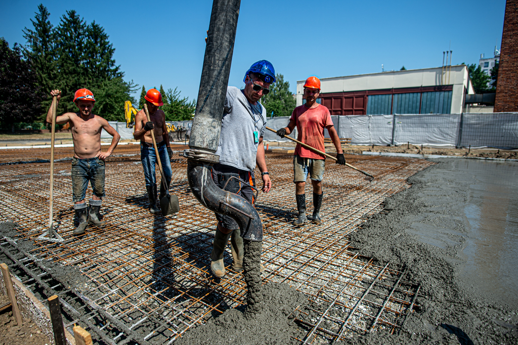
M214 164L212 166L212 179L219 188L241 195L253 204L254 190L250 188L249 185L242 183L236 178L231 179L232 176L239 178L255 188L255 176L253 171L241 170L233 166L223 164ZM227 183L226 187L225 183ZM216 218L223 227L226 227L229 230L239 229L239 225L236 221L228 215L216 213Z

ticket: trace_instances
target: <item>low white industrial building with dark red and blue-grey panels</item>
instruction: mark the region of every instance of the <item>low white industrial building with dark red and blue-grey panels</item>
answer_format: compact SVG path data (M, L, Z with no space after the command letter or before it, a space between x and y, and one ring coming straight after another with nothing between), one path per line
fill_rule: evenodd
M461 113L474 94L466 65L321 78L320 102L332 115ZM297 81L297 106L304 103Z

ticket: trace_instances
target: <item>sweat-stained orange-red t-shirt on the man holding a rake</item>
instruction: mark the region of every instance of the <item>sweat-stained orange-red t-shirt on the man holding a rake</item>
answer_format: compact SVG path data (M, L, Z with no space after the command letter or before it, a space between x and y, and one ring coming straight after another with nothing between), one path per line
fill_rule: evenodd
M298 131L298 141L325 152L324 148L324 128L333 125L329 109L319 104L318 107L308 109L305 105L296 107L293 110L290 121L295 121ZM325 156L297 144L295 154L303 158L325 160Z

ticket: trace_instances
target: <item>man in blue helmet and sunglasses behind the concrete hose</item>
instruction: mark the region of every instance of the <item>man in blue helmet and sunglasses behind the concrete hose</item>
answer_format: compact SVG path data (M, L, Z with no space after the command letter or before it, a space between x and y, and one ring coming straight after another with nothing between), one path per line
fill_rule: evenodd
M221 189L236 193L254 203L254 169L257 165L263 180L262 191L268 193L271 181L266 166L263 136L266 130L266 109L259 102L275 82L274 66L266 60L252 64L244 74L244 89L228 87L220 143L215 154L220 162L212 166L212 178ZM243 270L243 238L239 225L227 215L216 214L218 227L210 254L210 269L214 276L225 276L223 253L231 239L232 270ZM261 271L264 271L261 265Z

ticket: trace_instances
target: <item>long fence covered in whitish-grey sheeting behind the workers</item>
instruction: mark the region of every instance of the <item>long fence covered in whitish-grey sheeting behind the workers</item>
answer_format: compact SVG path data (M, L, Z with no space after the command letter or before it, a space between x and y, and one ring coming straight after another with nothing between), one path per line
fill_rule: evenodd
M340 138L351 138L352 145L412 145L518 148L518 113L393 114L331 116ZM289 117L268 118L267 126L278 130ZM133 139L133 128L125 122L109 122L123 139ZM175 141L189 140L192 121L171 121ZM329 138L325 131L324 136ZM102 138L110 135L103 131ZM297 130L290 134L297 138ZM287 142L266 131L264 140Z

